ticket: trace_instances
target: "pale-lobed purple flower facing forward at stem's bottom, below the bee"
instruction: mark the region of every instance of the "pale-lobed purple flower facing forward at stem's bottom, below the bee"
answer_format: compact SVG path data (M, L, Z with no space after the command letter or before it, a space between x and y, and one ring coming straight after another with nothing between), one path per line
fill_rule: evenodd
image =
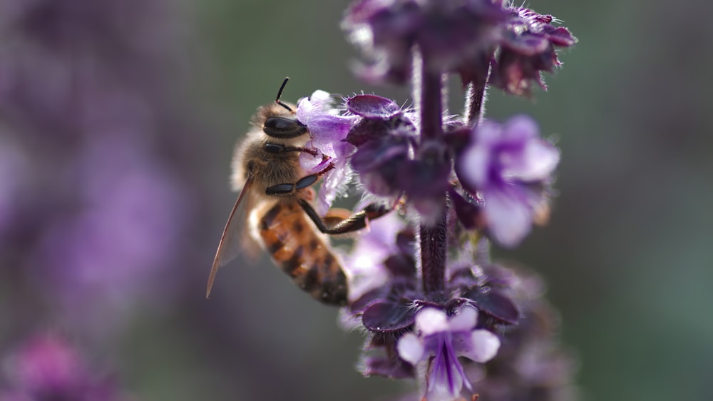
M428 363L426 400L456 400L463 386L473 391L458 357L487 362L500 347L496 335L474 329L477 321L478 312L470 307L461 308L451 318L443 310L424 308L416 315L419 334L406 333L399 340L401 358L412 365Z

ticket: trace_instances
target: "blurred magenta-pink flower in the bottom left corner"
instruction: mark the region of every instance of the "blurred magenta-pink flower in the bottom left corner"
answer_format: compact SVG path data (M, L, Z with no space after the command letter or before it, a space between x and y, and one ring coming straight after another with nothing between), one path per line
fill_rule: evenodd
M0 401L125 400L111 377L86 365L64 340L45 335L29 340L6 363L11 388Z

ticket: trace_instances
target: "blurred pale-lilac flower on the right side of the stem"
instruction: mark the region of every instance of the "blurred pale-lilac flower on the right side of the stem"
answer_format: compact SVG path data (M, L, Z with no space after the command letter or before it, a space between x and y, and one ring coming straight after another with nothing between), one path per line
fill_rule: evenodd
M505 125L486 121L476 126L471 144L458 157L456 171L465 188L484 200L488 233L513 246L530 230L560 153L539 136L531 118L511 118Z

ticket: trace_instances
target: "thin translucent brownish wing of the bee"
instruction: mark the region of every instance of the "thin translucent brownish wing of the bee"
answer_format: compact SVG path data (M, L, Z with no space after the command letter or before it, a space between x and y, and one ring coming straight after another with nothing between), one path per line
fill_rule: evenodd
M252 185L252 176L247 178L245 181L245 186L242 187L240 195L237 196L235 200L235 205L232 206L230 210L230 216L227 218L225 223L225 228L220 236L220 243L218 243L218 249L215 252L215 259L213 260L213 265L210 268L210 275L208 275L208 285L205 290L205 298L210 298L210 290L213 287L213 281L215 281L215 273L218 268L224 266L230 260L237 258L238 253L240 253L240 245L242 244L242 236L245 235L245 210L249 208L247 203L250 203L250 186ZM247 196L248 199L243 199ZM245 201L244 201L245 200Z

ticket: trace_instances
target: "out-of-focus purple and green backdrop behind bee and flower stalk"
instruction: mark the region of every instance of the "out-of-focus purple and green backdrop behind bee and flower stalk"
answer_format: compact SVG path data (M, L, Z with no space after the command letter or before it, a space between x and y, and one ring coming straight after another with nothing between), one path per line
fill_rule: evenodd
M386 400L269 260L205 280L257 106L350 72L347 1L0 0L0 389L66 339L135 400ZM532 1L580 42L529 113L563 152L550 225L518 250L561 311L586 400L712 400L713 36L707 1ZM458 87L451 108L461 108Z

